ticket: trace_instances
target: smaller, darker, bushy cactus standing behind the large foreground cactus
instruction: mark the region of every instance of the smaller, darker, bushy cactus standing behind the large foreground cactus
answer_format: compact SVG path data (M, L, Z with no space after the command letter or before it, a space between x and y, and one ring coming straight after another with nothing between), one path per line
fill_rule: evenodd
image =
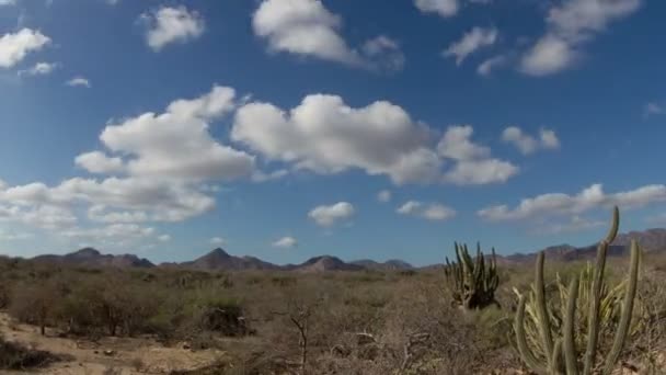
M498 305L495 300L495 291L500 285L495 249L492 249L492 257L486 265L481 245L476 245L475 259L470 255L467 245L455 243L455 247L457 262L451 263L447 258L444 269L453 304L466 309Z

